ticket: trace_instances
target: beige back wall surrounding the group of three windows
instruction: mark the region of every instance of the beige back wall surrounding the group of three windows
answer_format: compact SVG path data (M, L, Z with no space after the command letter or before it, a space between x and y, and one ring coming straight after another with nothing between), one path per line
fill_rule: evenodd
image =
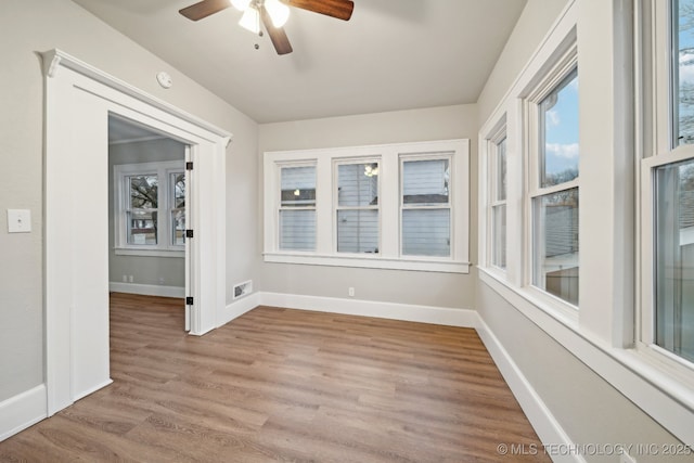
M260 125L259 151L337 147L444 139L471 139L471 217L476 217L477 107L458 105L393 113ZM261 156L261 154L260 154ZM261 158L258 159L261 165ZM262 173L258 175L262 197ZM262 200L260 200L262 201ZM477 234L471 224L471 259ZM259 230L262 230L261 220ZM261 253L261 243L258 243ZM261 263L259 288L267 292L472 309L474 273L364 270L323 266Z

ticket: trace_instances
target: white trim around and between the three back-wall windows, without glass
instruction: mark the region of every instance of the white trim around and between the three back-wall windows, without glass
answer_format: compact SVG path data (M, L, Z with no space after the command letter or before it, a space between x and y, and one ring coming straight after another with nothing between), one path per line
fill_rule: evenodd
M428 158L451 154L451 257L401 256L400 254L400 173L401 156L432 153ZM378 207L381 220L380 253L373 255L337 253L335 226L335 163L378 162ZM279 249L279 223L274 202L279 188L278 166L286 163L316 163L316 252ZM266 262L301 263L468 273L470 223L470 140L441 140L335 149L266 152L265 179L265 250ZM458 184L455 187L455 184Z

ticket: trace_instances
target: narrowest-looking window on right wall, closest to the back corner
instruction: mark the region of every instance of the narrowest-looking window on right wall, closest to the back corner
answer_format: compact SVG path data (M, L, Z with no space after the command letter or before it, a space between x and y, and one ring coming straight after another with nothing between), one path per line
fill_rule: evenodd
M506 268L506 136L492 141L491 165L491 265Z

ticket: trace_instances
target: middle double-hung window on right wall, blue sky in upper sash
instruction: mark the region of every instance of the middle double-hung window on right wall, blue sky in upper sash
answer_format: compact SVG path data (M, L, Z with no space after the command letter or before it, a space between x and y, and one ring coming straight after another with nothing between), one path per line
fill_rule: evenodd
M568 68L568 72L563 69ZM557 79L558 77L558 79ZM578 68L573 59L558 80L532 101L537 142L531 175L532 284L578 306Z

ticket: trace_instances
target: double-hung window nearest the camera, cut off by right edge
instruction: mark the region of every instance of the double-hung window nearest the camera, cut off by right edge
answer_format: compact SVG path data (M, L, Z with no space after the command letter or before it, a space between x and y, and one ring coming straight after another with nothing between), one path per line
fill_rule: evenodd
M651 120L641 167L641 343L694 366L694 0L652 3ZM669 31L669 34L667 34ZM663 53L663 50L669 50ZM665 57L665 59L663 59ZM668 66L660 63L668 62ZM644 69L645 70L645 69ZM646 103L647 104L647 103Z

